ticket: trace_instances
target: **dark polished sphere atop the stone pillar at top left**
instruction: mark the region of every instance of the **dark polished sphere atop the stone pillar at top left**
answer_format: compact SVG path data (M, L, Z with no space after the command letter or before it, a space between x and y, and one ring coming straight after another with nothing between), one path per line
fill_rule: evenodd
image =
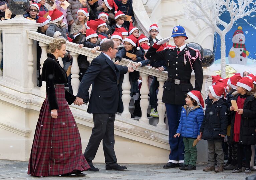
M13 14L23 15L29 9L29 0L9 0L8 5Z

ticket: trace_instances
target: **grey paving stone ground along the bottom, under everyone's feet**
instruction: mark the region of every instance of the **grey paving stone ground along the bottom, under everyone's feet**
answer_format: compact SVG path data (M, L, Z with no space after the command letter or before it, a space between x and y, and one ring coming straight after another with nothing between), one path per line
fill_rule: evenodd
M125 171L106 171L105 164L95 163L99 172L85 172L84 177L74 175L68 177L32 177L27 175L28 162L0 160L0 180L7 179L39 179L39 180L244 180L247 176L256 175L256 171L248 174L231 171L221 173L204 172L206 164L197 164L195 171L181 171L179 168L163 169L164 164L121 164L127 167Z

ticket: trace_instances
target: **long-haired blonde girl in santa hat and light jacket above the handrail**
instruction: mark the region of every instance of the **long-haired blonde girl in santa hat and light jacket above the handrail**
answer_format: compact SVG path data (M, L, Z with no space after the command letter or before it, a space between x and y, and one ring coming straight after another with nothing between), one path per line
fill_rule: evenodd
M87 11L87 8L81 8L77 11L76 14L77 14L77 19L71 25L71 28L70 28L70 37L73 37L74 39L73 43L78 44L82 39L82 33L86 31L86 27L84 26L83 28L83 25L87 22L89 13Z

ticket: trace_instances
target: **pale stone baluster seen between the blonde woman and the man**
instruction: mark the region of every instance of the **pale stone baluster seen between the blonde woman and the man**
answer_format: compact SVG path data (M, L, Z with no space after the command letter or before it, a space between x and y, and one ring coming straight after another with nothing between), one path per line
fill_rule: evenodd
M78 63L77 63L77 57L79 56L79 54L74 53L74 52L70 52L70 55L73 57L73 61L72 61L72 67L71 67L71 86L72 86L72 90L73 90L73 95L76 96L77 92L78 92L78 87L79 87L79 67L78 67Z

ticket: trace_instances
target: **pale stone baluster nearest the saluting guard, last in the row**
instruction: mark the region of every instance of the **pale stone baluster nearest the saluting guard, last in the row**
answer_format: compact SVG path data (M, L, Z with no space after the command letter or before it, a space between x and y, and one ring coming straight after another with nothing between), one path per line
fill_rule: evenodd
M157 94L157 99L158 99L157 112L159 115L159 120L158 120L157 127L161 129L166 129L166 124L164 122L166 108L165 108L165 103L162 102L163 92L164 92L163 86L164 86L165 80L159 77L157 78L157 80L159 81L159 91Z

